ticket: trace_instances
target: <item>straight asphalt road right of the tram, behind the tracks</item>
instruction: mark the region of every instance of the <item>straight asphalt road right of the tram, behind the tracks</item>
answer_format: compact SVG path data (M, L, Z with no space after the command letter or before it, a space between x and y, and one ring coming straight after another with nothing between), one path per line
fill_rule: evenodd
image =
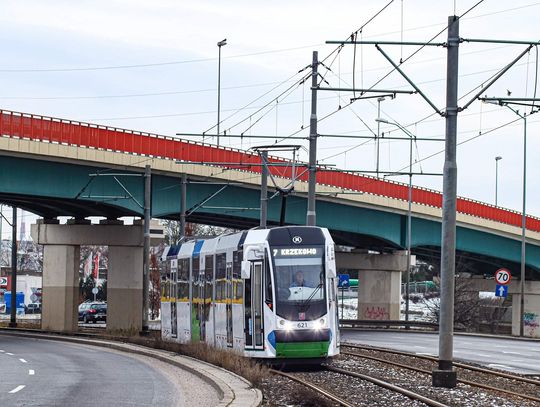
M342 330L341 341L437 356L435 333ZM454 359L527 375L540 375L540 341L454 335Z

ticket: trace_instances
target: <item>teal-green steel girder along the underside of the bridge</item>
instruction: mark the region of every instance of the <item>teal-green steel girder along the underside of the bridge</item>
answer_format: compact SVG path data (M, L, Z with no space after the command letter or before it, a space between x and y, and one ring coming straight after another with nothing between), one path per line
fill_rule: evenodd
M91 177L90 174L100 176ZM114 175L117 174L117 175ZM46 160L0 156L0 200L42 216L142 216L144 177L142 170L104 170L96 166L59 163ZM152 216L178 219L180 208L179 176L152 175ZM229 185L208 199L223 185L188 184L187 209L195 209L189 220L214 224L256 226L260 195L255 187ZM271 197L273 192L269 192ZM307 201L291 195L287 198L286 223L305 224ZM69 208L69 209L66 209ZM269 201L269 223L277 224L281 197ZM406 246L406 215L344 205L328 199L317 201L317 224L337 235L362 236L388 248ZM413 217L413 250L440 248L441 224ZM519 240L476 229L458 227L456 249L462 252L520 261ZM540 246L527 245L527 265L540 270Z

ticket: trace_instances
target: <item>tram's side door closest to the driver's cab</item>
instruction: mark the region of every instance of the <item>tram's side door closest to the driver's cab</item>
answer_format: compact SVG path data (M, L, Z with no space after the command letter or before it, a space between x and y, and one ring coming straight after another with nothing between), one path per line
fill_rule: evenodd
M262 262L251 263L251 278L245 280L244 331L246 348L263 349Z

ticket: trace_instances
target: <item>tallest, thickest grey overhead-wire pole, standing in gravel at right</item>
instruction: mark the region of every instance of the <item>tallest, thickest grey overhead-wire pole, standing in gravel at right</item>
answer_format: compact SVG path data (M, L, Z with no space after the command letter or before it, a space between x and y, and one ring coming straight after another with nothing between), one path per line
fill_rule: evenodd
M446 143L443 170L443 211L441 235L441 305L439 315L439 366L433 370L433 386L456 387L453 369L454 275L456 258L457 194L457 90L459 59L459 18L448 17L446 67Z

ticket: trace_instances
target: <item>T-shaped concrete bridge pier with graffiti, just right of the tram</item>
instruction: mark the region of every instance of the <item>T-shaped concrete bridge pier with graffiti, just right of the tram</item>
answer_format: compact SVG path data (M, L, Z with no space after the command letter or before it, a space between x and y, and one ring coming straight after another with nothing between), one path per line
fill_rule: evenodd
M416 262L411 256L411 262ZM358 270L358 319L399 320L401 273L406 252L393 254L336 253L338 269Z

